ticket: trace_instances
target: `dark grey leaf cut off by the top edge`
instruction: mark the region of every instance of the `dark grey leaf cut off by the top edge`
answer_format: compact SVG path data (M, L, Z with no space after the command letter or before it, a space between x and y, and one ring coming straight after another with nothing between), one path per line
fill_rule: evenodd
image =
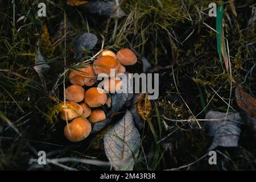
M116 6L114 1L94 1L80 6L88 13L105 16L108 18L122 18L125 12L120 6Z

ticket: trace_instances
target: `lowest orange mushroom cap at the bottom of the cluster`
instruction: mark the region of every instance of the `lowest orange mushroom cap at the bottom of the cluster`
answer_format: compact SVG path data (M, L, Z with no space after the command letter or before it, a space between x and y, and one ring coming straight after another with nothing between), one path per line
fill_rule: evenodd
M64 135L71 142L80 142L88 137L92 131L92 126L87 119L82 117L75 118L64 128Z

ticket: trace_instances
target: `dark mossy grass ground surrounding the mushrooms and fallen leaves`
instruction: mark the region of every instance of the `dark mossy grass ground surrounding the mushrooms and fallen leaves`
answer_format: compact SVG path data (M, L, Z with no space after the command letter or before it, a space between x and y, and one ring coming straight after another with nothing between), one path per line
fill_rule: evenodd
M108 161L102 136L69 142L63 135L65 122L56 109L64 99L63 81L69 85L68 78L60 75L78 63L74 59L76 40L90 32L98 42L85 51L82 60L93 57L102 45L115 52L127 47L139 54L138 63L127 71L142 73L141 58L146 57L151 71L159 73L159 98L153 101L148 120L152 127L146 123L141 131L143 150L135 170L255 170L256 144L247 126L241 126L239 146L217 147L217 165L209 165L212 137L208 137L204 121L195 122L205 119L208 111L240 112L237 85L256 96L255 1L215 2L224 7L228 72L218 54L217 18L208 15L212 1L123 0L119 1L126 14L122 18L102 17L51 0L45 1L47 16L40 18L40 2L0 1L0 169L109 170L109 166L81 162ZM64 19L71 23L65 41L55 40L55 47L49 49L44 45L49 69L40 77L33 69L40 30L47 23L48 42L53 44L56 28ZM30 162L42 150L49 161L77 160L36 168L39 166Z

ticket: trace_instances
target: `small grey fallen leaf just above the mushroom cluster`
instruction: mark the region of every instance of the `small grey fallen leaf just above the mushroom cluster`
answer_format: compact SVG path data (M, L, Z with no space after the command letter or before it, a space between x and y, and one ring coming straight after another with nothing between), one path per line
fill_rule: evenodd
M80 35L80 37L77 39L76 46L75 46L76 60L81 59L81 57L84 55L83 49L90 51L91 49L94 48L94 46L96 46L97 42L98 42L98 38L94 34L84 33Z

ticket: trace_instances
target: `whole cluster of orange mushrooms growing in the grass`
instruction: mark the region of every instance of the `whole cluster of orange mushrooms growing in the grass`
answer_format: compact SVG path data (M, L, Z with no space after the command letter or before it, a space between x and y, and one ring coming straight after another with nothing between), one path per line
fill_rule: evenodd
M88 137L92 131L92 124L106 118L102 106L106 104L107 107L111 107L112 100L105 92L113 93L122 89L122 81L118 77L112 77L110 69L114 69L117 75L126 72L126 65L135 63L137 57L130 49L121 49L117 55L113 51L104 50L93 65L83 63L82 68L69 73L69 81L73 85L65 90L65 104L60 104L60 118L71 121L64 128L64 135L68 140L80 142ZM97 76L100 73L105 73L109 77L109 80L104 80L102 89L97 87ZM84 86L88 89L85 90Z

